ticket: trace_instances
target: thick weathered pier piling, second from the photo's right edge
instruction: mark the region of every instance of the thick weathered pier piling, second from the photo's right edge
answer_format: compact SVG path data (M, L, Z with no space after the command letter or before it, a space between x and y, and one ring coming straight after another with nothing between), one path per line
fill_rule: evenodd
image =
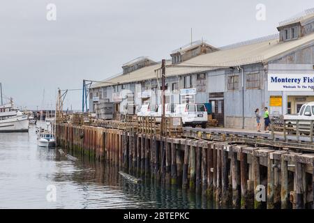
M296 208L304 209L304 164L296 161L295 163L295 200L296 200Z

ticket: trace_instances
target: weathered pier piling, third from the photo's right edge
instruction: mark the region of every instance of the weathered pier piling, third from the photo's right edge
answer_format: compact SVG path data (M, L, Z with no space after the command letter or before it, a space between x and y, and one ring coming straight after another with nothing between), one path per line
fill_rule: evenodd
M281 209L290 207L287 161L281 156Z

